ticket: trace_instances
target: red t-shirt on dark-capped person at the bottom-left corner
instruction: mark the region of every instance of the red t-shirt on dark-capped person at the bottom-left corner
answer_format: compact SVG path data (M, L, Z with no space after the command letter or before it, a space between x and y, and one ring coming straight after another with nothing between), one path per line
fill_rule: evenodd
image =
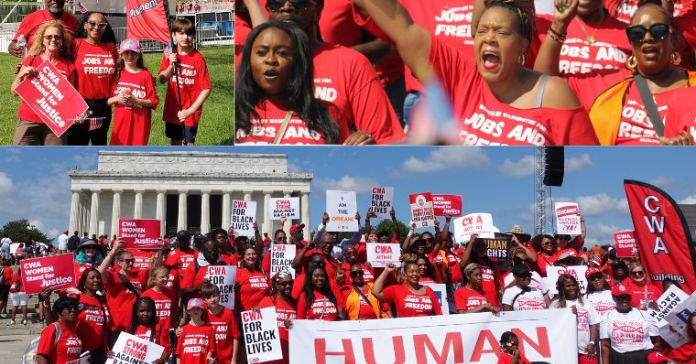
M57 343L55 342L56 326L60 327ZM76 360L82 351L80 338L72 328L61 321L56 321L41 331L39 346L36 348L36 354L45 356L51 364L65 364Z

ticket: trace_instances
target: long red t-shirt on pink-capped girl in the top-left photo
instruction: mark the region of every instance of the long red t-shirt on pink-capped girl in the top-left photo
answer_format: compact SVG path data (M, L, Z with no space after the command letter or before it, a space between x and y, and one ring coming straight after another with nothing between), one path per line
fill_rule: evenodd
M159 97L155 81L147 70L131 73L124 69L118 83L111 88L111 96L130 92L139 99L152 102L152 107L114 104L114 130L109 145L147 145L152 126L152 110L157 108Z

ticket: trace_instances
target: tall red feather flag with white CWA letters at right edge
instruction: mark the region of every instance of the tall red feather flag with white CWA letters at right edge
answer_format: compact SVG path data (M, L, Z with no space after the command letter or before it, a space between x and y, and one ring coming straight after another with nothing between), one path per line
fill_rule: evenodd
M674 279L687 292L696 290L696 252L684 214L661 189L624 180L638 242L638 253L653 281Z

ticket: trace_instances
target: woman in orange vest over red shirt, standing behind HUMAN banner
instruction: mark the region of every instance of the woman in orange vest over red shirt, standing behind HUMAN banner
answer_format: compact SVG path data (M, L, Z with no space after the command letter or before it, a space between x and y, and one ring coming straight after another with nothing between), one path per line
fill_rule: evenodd
M388 318L388 305L382 303L372 295L372 283L365 282L365 272L360 263L350 265L351 283L343 289L346 312L349 320L373 320Z

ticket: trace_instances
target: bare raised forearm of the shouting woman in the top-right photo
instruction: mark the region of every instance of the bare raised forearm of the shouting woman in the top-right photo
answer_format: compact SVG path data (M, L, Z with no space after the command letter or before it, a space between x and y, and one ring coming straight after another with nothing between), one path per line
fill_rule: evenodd
M406 8L396 0L354 0L394 41L401 59L419 78L428 75L432 41L427 30L416 25Z

